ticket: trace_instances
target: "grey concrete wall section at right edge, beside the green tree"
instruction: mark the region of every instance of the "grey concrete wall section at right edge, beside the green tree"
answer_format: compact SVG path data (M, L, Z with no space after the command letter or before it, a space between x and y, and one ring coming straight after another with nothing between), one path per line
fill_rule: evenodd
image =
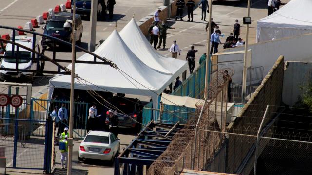
M312 62L286 62L283 87L287 88L283 88L283 102L289 106L295 105L302 94L299 86L311 80Z

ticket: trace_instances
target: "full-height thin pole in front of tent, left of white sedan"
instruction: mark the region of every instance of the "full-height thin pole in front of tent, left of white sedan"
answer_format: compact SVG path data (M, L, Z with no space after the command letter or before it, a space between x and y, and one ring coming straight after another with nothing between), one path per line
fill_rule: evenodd
M73 159L73 126L74 126L74 89L75 89L75 60L76 60L76 2L73 0L73 21L72 21L72 72L70 83L70 107L69 107L69 137L68 137L68 165L67 175L72 175L72 159Z

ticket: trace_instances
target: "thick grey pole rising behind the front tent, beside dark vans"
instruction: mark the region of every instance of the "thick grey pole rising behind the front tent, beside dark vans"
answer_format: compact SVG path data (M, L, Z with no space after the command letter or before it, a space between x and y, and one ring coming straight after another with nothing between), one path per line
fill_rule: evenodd
M105 9L102 8L102 14L104 12ZM94 52L96 50L97 15L98 15L98 0L92 0L90 12L90 35L88 44L88 51L90 52Z

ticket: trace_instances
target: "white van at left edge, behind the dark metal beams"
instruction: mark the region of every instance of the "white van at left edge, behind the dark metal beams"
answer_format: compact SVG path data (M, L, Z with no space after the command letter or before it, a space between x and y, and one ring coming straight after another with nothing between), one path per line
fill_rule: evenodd
M23 45L27 48L32 49L33 47L33 37L27 37L27 36L16 36L15 37L15 42ZM17 51L16 51L17 47L15 46L14 49L14 55L17 55ZM37 52L40 53L40 47L39 44L37 42L37 40L35 41L35 49ZM33 62L32 61L32 55L34 53L27 51L23 48L19 48L19 63L18 63L18 68L19 69L29 69L29 70L36 70L37 69L37 63L36 61ZM16 65L16 58L5 58L5 56L12 56L12 44L8 43L6 45L6 52L4 52L4 58L2 58L1 60L1 68L10 68L10 69L15 69L15 65ZM37 55L35 55L35 58L37 57ZM6 80L8 78L20 78L20 76L24 74L24 75L34 75L31 72L16 72L16 71L7 71L7 70L0 70L0 79L1 80ZM29 76L29 78L32 78L31 76Z

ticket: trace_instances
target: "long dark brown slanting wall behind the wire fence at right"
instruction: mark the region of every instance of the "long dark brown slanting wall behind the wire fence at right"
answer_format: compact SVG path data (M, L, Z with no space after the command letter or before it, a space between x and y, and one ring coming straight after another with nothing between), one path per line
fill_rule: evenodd
M242 112L234 122L230 123L228 132L256 135L261 123L266 105L282 104L282 89L284 77L284 58L280 56L272 69L263 79L261 85L254 92L251 99L242 108ZM272 119L278 107L270 107L267 119ZM264 125L269 123L266 120ZM229 135L227 172L235 173L241 162L247 156L249 150L255 142L254 137ZM253 164L250 164L253 166Z

